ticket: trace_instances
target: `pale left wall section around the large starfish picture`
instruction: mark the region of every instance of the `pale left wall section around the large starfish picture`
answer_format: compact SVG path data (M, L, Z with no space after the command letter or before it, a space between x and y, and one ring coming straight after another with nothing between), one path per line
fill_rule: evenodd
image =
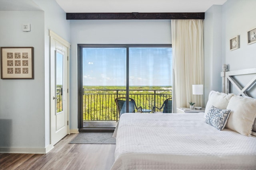
M6 146L0 137L0 150L44 148L44 12L0 11L0 23L1 47L34 47L34 80L0 79L0 119L10 123L0 123L10 139ZM22 32L22 23L31 31Z

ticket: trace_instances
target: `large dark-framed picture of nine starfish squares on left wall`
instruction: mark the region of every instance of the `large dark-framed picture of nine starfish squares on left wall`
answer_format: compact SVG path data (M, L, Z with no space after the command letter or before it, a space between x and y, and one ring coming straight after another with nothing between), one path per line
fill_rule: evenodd
M34 47L1 47L1 79L34 79Z

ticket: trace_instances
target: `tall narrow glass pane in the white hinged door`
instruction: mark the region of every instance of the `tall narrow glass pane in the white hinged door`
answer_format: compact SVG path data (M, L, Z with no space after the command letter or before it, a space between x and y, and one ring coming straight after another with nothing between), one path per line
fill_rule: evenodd
M56 113L63 111L62 88L63 88L63 54L56 52Z

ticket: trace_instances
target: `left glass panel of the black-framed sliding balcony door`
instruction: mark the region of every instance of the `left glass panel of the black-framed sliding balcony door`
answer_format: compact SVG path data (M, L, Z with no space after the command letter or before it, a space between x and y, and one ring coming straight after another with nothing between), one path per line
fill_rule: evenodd
M126 92L126 48L83 48L84 127L116 126L115 98Z

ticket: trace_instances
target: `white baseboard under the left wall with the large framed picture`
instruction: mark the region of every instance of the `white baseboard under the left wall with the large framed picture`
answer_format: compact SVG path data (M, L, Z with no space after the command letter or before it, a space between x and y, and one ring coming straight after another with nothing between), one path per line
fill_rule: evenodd
M0 153L46 154L51 149L52 149L52 147L49 147L49 146L46 148L0 147Z

